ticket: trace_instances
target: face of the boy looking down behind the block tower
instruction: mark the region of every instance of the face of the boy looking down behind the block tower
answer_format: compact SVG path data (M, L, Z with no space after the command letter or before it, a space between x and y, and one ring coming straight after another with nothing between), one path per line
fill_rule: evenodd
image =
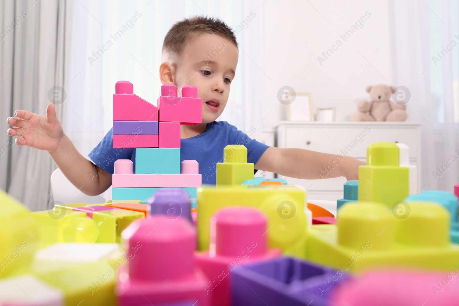
M206 34L190 39L176 66L175 85L198 88L202 99L202 123L215 121L228 101L239 51L221 36Z

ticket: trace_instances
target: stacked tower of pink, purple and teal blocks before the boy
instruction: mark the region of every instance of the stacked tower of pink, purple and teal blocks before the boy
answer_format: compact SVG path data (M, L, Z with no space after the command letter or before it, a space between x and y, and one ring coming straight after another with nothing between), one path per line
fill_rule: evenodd
M180 124L202 122L195 86L163 84L157 106L134 95L133 84L118 81L113 95L113 148L135 148L132 160L115 161L113 200L145 200L159 188L184 188L192 202L201 186L197 161L180 162ZM196 204L196 203L194 203Z

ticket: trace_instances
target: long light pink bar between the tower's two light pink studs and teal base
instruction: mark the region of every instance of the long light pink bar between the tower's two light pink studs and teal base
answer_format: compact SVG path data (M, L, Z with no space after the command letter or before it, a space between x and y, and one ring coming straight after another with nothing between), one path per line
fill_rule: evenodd
M198 187L201 174L113 174L113 188Z

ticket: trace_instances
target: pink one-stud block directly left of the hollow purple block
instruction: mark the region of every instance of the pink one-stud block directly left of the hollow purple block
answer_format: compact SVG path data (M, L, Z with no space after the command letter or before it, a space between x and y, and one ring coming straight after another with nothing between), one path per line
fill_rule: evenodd
M281 252L268 249L267 218L255 208L224 208L210 223L209 250L196 254L196 263L209 279L204 289L212 293L211 305L227 306L231 305L229 272L246 263L278 257Z

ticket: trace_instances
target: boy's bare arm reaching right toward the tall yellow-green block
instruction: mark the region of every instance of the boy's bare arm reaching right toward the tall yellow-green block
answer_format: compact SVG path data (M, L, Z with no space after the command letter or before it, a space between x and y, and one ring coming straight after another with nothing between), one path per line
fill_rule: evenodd
M356 180L358 166L361 165L365 165L365 162L349 156L269 147L255 164L255 169L291 178L321 179L344 176L347 180Z

